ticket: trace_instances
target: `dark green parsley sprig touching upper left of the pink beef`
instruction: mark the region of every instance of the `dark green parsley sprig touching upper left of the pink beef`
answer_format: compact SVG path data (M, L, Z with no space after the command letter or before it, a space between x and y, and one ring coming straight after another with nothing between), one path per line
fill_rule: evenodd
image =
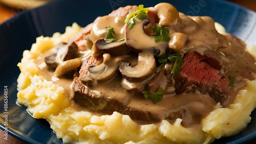
M159 69L162 65L166 64L168 61L175 62L170 74L179 74L182 64L184 63L184 59L182 58L181 54L174 51L173 54L170 56L166 56L163 53L161 56L158 57L158 62L161 64L157 67Z

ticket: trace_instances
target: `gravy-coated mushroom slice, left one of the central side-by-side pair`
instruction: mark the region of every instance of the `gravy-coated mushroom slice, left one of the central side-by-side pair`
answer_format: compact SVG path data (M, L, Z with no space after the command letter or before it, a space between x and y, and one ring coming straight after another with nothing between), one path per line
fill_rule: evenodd
M88 75L96 81L106 81L114 78L122 57L112 58L110 54L103 54L103 62L99 65L92 65L88 68Z

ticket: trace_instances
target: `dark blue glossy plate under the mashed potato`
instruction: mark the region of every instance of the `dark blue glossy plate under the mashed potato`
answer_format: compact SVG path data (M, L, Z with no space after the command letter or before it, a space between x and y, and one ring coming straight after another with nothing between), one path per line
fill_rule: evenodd
M28 143L62 143L44 119L34 119L26 107L16 105L17 77L16 66L24 50L29 50L36 37L52 36L54 32L65 31L65 27L77 22L86 26L97 16L106 15L120 6L144 4L155 6L163 1L135 0L59 0L48 5L17 14L0 25L0 122L5 129L8 112L8 133ZM246 43L256 43L256 13L226 1L164 1L172 3L179 11L189 15L208 15L221 23L227 30ZM8 111L4 111L4 86L8 86ZM252 121L240 133L216 140L215 143L242 143L256 137L256 112Z

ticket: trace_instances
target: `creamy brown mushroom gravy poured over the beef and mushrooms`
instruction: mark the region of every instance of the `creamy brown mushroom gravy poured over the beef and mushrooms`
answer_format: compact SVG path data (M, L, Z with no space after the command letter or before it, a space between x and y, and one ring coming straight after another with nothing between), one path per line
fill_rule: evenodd
M167 16L166 11L159 10L160 8L170 9L172 11L172 14L170 15L171 18ZM130 64L132 66L136 65L136 63L140 61L140 56L143 55L150 56L151 58L155 59L154 49L159 50L157 54L158 56L161 53L165 52L168 47L173 50L179 51L183 55L188 51L195 51L203 55L204 52L209 49L221 52L229 59L229 62L231 63L231 69L228 71L228 74L235 78L234 86L229 87L228 102L222 105L223 107L231 104L233 98L236 97L237 91L246 86L246 79L255 79L254 73L256 69L254 58L248 52L246 52L244 47L240 44L231 40L228 43L228 40L216 31L214 25L215 22L212 18L207 16L186 16L181 13L179 15L175 8L163 3L158 4L158 6L153 9L153 11L157 11L157 15L160 15L161 17L159 25L160 23L162 23L163 26L168 27L168 29L170 30L169 41L156 43L153 36L145 33L145 23L148 24L148 19L151 18L144 20L137 19L137 25L135 25L133 29L127 30L125 32L126 25L124 23L124 19L126 18L126 16L113 17L107 15L102 16L94 22L92 31L90 33L92 42L94 43L97 39L105 38L107 33L105 29L106 26L113 27L116 32L114 39L121 39L126 37L125 42L133 47L133 49L135 49L134 51L139 53L138 59L134 57L132 57L132 59L129 59L129 56L127 55L118 57L122 61L127 62L127 65ZM171 22L168 22L168 20L170 20ZM94 51L97 50L92 50L92 53L94 53ZM90 50L88 52L90 52ZM70 98L72 99L72 97L74 97L74 93L70 87L72 85L73 79L63 77L56 78L54 72L49 69L42 60L42 58L45 58L51 53L52 50L41 54L41 57L37 59L36 63L41 68L40 76L48 81L53 81L55 84L65 88L66 94L70 95ZM116 58L107 54L104 55L105 57L103 56L103 58L105 59L103 60L103 63L104 61L111 61L111 59ZM82 61L89 56L90 53L86 53L84 55L80 53L79 60ZM133 85L136 85L136 90L141 91L144 88L145 84L150 82L155 76L155 74L152 73L145 73L142 75L143 69L150 69L148 71L151 72L155 71L152 69L155 69L156 65L150 62L151 58L145 58L145 61L148 60L148 62L142 63L139 66L140 69L135 69L138 71L131 70L131 73L134 72L135 74L124 75L122 71L120 71L120 73L122 73L122 75L120 75L119 71L117 71L118 73L113 75L113 78L109 78L107 81L97 80L97 82L92 87L84 85L90 89L90 91L92 92L92 97L102 98L101 105L96 106L96 108L86 108L80 107L78 106L78 104L73 103L73 107L76 107L77 110L92 111L93 109L95 114L104 114L104 111L101 111L101 108L105 106L105 101L115 99L134 109L140 111L150 111L153 117L158 117L160 119L166 119L170 114L179 113L180 111L182 111L182 113L184 114L181 114L181 117L183 119L182 124L184 126L189 127L200 125L202 117L207 115L207 113L209 113L210 111L214 110L215 106L217 105L217 103L212 100L212 98L209 97L208 94L202 94L200 93L200 91L197 91L196 93L176 94L174 91L172 91L168 94L165 94L164 98L160 102L153 104L151 100L144 99L142 93L134 92L133 90L129 89L133 88ZM114 62L116 63L111 63L111 65L109 66L117 69L117 67L119 67L119 64L117 63L119 63L120 60L114 60ZM168 69L165 70L168 71ZM249 73L247 74L246 72L248 72L248 70ZM141 74L140 78L130 77L131 75L136 75L136 72L138 73L138 75L139 73ZM144 78L145 75L146 78ZM246 75L246 77L243 77L243 75ZM93 77L92 75L90 76ZM96 77L97 76L95 76L95 78ZM141 85L141 83L143 84ZM125 85L128 88L124 90L125 88L122 85ZM166 89L174 89L172 83L166 83L166 85L163 87L165 87ZM108 113L109 112L106 112L105 114ZM168 119L168 121L170 123L173 123L175 119ZM156 123L156 121L154 123Z

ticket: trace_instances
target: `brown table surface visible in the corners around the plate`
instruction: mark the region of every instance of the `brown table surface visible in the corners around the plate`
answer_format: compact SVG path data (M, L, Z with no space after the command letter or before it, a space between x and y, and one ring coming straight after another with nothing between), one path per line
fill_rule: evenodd
M254 0L252 1L251 0L230 0L230 2L236 3L238 5L244 6L253 11L256 11L256 1ZM0 23L16 15L18 11L20 10L15 10L15 8L9 8L4 4L0 3ZM0 141L2 144L5 144L5 143L24 144L25 143L11 135L8 135L8 140L4 140L3 130L0 130ZM255 143L255 141L256 141L256 138L246 142L246 144L252 144L252 143Z

